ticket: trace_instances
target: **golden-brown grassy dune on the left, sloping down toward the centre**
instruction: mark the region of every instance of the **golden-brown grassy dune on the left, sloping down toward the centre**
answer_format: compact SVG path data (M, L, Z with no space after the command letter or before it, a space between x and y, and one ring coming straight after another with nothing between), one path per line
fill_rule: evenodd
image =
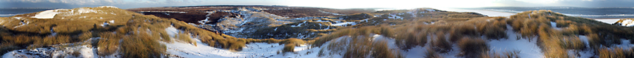
M51 18L38 17L46 13L54 14ZM89 45L98 48L97 55L101 56L147 58L165 57L166 48L161 43L173 40L192 43L192 38L198 38L206 45L227 50L242 50L244 44L254 42L296 42L234 38L199 29L179 20L106 6L0 17L0 25L0 54L19 49ZM177 29L178 34L168 34L168 31L174 31L168 28Z

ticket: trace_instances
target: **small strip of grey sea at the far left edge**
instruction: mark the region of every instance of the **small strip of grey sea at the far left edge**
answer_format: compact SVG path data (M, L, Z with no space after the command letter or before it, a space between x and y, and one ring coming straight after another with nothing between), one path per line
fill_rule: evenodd
M0 17L11 17L25 13L35 13L44 10L52 10L52 8L0 8Z

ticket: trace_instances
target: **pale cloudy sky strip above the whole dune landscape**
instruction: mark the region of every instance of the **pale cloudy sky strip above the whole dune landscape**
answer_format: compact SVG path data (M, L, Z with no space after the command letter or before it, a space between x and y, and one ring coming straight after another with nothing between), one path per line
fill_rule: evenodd
M0 0L0 8L266 5L323 8L634 7L634 0Z

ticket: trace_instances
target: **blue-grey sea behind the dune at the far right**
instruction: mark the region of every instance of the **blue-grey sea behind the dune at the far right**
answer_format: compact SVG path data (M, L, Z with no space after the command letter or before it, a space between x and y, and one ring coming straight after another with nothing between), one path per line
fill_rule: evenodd
M493 10L508 13L521 13L527 10L552 10L564 15L588 18L632 18L634 8L578 8L578 7L490 7L469 8L480 10Z

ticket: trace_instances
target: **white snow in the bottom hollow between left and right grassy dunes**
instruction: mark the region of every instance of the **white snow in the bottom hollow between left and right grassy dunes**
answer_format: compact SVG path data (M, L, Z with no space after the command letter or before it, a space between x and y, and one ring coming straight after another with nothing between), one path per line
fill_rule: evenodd
M192 38L196 40L197 44L192 45L189 43L163 43L168 50L166 52L169 57L185 57L185 58L228 58L228 57L248 57L248 58L280 58L280 57L295 57L295 58L313 58L317 57L318 50L321 48L310 48L310 45L302 45L295 47L294 51L297 52L280 52L284 45L278 43L249 43L242 51L234 52L231 50L225 50L220 48L213 48L206 43L202 43L198 38ZM278 52L280 52L278 54ZM310 53L308 53L310 52Z

